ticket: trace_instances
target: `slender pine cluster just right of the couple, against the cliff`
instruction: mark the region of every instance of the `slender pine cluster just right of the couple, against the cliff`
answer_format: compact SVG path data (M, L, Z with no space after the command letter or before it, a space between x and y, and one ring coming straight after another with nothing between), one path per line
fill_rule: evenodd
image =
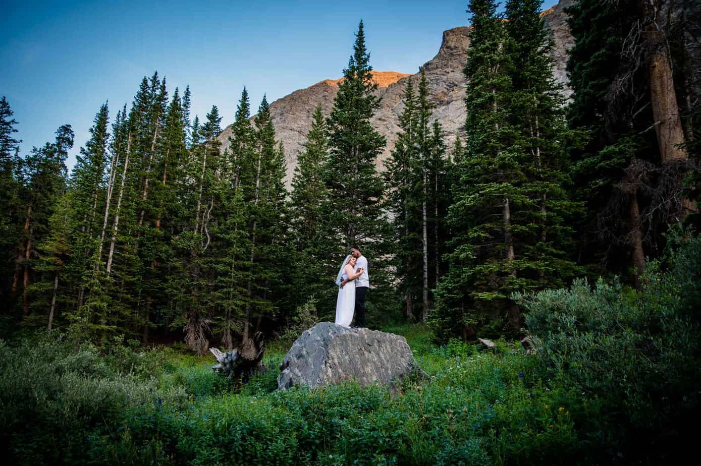
M399 118L401 132L385 161L387 209L393 217L394 275L409 321L416 319L414 308L421 309L421 320L428 315L433 302L429 289L435 288L439 280L447 236L444 217L449 191L448 161L440 123L434 121L433 128L429 124L433 118L429 97L426 71L422 68L418 94L414 94L411 78L407 83L402 100L404 110Z

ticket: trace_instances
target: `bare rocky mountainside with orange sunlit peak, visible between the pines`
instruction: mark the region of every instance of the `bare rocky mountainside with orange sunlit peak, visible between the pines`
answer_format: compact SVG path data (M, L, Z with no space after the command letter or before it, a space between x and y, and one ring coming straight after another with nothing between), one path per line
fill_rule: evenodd
M545 26L550 31L555 45L552 54L555 61L554 74L562 83L566 83L567 49L572 46L572 36L567 28L563 9L573 2L574 0L560 0L559 4L543 12ZM426 69L431 101L435 106L433 118L442 124L449 148L456 135L461 134L463 137L466 85L463 68L467 61L469 45L469 27L448 29L443 33L443 41L437 55L423 65ZM387 138L387 146L377 160L378 168L382 170L383 160L386 160L394 149L400 129L399 115L403 109L401 100L409 76L394 71L374 71L374 77L379 85L376 95L382 98L382 102L371 123ZM417 83L418 74L412 75L412 79ZM297 166L297 155L304 149L306 134L311 128L314 108L320 105L325 115L331 113L339 81L341 80L326 79L306 89L296 90L271 104L275 135L285 145L285 184L288 189L292 183L294 167ZM566 89L566 93L569 95L570 91ZM219 135L222 150L229 144L229 137L231 125Z

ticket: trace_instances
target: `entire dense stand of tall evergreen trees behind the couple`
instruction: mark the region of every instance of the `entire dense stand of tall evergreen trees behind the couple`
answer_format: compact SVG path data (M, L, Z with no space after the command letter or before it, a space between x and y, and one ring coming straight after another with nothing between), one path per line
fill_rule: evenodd
M332 319L352 245L372 268L371 322L423 322L441 341L521 335L515 292L607 274L639 288L669 226L698 224L698 12L577 1L568 99L541 6L469 2L464 135L446 146L421 69L383 172L360 22L290 192L270 104L252 115L245 88L222 144L216 106L192 117L189 87L144 76L131 104L97 109L70 172L71 126L25 153L2 97L2 331L247 345L303 306Z

